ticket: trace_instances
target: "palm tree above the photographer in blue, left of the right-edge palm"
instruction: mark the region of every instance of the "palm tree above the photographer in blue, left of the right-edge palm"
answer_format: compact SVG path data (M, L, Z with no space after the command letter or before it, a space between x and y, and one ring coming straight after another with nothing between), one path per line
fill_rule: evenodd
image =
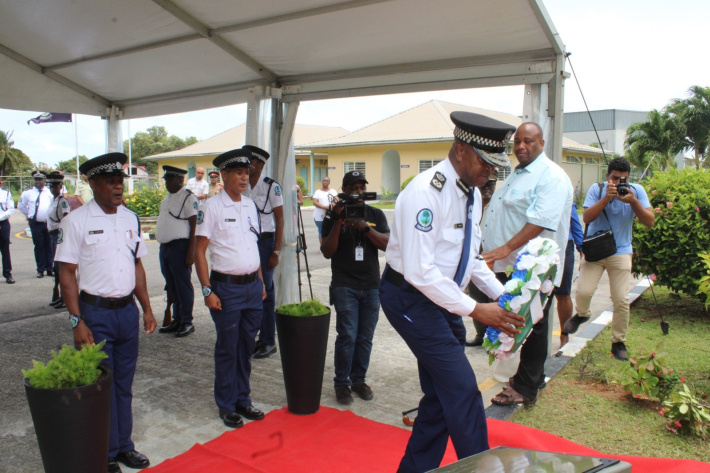
M661 169L673 169L675 155L686 146L684 136L684 127L675 117L666 111L651 110L648 121L632 123L626 130L625 155L646 164L660 158Z

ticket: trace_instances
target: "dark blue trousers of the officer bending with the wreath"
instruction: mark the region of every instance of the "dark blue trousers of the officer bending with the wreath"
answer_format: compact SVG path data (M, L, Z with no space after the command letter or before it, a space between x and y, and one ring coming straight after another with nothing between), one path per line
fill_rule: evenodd
M380 301L387 320L417 358L424 392L398 471L438 468L449 437L458 458L488 450L483 398L464 353L461 317L384 278Z

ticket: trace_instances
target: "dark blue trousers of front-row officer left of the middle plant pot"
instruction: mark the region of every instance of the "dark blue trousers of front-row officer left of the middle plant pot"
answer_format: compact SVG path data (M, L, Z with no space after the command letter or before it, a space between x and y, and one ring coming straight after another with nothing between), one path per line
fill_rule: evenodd
M261 324L263 294L259 278L240 285L210 280L222 310L210 309L217 331L214 347L214 398L221 413L251 405L251 355Z

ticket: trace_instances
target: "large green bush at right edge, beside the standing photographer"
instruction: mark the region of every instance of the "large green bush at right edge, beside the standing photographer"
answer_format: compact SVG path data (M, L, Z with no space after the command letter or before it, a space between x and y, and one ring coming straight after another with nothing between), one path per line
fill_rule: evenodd
M659 172L645 188L656 221L651 228L634 223L634 273L696 295L707 273L698 255L710 251L710 170Z

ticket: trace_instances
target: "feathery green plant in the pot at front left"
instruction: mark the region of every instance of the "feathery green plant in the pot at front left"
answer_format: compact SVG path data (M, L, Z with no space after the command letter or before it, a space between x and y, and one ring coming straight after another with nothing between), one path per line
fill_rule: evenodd
M45 365L33 360L32 368L22 370L30 385L39 389L67 389L88 386L99 379L98 369L108 355L101 349L106 340L98 345L84 345L76 350L64 345L59 353L52 350L52 359Z

